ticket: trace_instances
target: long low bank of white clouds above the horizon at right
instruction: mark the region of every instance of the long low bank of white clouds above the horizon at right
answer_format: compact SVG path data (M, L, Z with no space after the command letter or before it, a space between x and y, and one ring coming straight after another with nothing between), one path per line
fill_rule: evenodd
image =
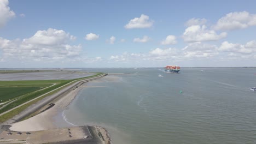
M203 42L188 43L183 49L170 47L167 49L156 48L146 53L127 53L113 55L110 61L117 63L127 62L184 62L184 61L233 61L234 59L256 59L256 40L248 43L232 44L227 41L217 46ZM207 65L205 65L207 66ZM210 66L210 65L209 65Z

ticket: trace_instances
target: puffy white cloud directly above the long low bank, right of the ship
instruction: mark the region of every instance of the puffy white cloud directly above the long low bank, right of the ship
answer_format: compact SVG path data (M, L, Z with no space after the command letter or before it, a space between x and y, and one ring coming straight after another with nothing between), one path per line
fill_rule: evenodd
M227 33L225 32L218 35L215 31L208 30L205 25L193 25L185 29L183 39L186 42L213 41L223 39L226 35Z

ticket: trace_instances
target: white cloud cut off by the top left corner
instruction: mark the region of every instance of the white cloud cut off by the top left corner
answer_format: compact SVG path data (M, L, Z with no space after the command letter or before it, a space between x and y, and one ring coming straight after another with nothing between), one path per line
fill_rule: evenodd
M15 17L14 11L10 10L8 4L8 0L0 1L0 28L3 27L9 19Z

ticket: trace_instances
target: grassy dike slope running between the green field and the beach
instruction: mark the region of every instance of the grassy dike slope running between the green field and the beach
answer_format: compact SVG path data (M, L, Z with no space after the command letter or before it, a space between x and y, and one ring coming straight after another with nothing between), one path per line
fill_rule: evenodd
M54 89L56 89L55 91L53 91L53 92L51 92L49 94L46 94L43 97L40 97L40 98L38 98L36 100L31 101L30 103L28 103L26 105L23 105L23 106L19 107L19 109L14 109L14 110L12 110L12 111L10 111L8 113L5 113L4 115L0 116L0 123L2 123L4 121L7 121L8 119L10 119L11 117L13 117L15 115L18 115L20 112L24 111L28 106L30 106L30 105L32 105L34 103L37 103L37 101L42 100L43 98L48 97L49 95L54 94L54 93L60 91L62 88L65 88L66 86L62 87L62 88L59 88L59 87L64 86L64 85L66 85L69 82L71 82L70 84L72 84L73 82L76 82L76 81L79 81L79 80L83 80L83 79L90 79L91 77L96 77L96 76L101 75L101 74L103 74L103 73L97 73L96 75L92 75L92 76L88 76L88 77L81 77L81 78L73 79L73 80L56 80L56 81L59 81L60 83L58 83L58 84L56 84L56 85L54 85L52 87L45 88L42 91L37 91L37 92L32 92L30 94L27 94L24 97L21 97L20 99L14 101L13 103L3 107L3 109L0 110L0 113L5 112L5 111L10 110L10 109L13 109L16 106L19 106L21 104L26 103L26 101L32 100L32 99L34 99L36 97L39 97L42 94L48 93L48 92L53 91ZM50 80L50 81L53 82L54 80ZM38 82L42 82L42 81L38 81ZM59 88L59 89L57 89L57 88Z

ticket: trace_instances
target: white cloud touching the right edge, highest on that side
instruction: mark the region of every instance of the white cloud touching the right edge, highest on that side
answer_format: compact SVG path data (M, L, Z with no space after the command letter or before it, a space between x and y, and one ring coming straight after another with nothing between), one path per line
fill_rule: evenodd
M242 29L249 26L256 26L256 14L249 14L247 11L226 14L220 18L214 26L216 30Z

